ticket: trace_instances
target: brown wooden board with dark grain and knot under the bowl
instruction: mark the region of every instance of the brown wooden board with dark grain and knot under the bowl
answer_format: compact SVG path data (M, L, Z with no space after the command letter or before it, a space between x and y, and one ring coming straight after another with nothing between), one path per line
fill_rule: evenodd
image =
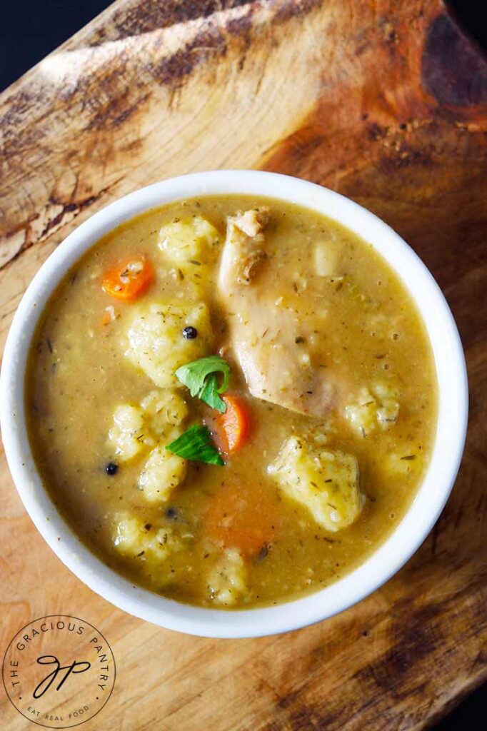
M0 652L48 614L97 626L118 676L86 731L423 729L486 678L486 102L486 62L440 0L118 0L1 94L2 346L91 213L171 175L256 167L388 221L445 292L469 367L434 531L369 599L289 635L197 639L116 610L37 534L2 453ZM32 728L0 699L2 728Z

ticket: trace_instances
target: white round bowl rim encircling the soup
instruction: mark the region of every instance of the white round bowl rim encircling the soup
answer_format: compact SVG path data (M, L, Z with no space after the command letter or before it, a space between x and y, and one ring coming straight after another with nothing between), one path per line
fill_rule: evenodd
M439 383L439 412L423 484L401 523L370 558L332 586L304 598L225 612L180 604L133 586L83 545L57 512L37 472L26 431L24 381L29 345L45 303L67 270L99 238L149 208L186 197L230 193L268 195L312 208L344 224L382 254L426 323ZM426 538L448 499L464 448L467 410L467 371L458 330L442 292L415 252L377 216L351 200L314 183L254 170L216 170L155 183L81 224L51 254L23 296L7 338L0 376L0 422L7 461L20 498L50 548L80 580L117 607L159 626L205 637L255 637L298 629L347 609L387 581Z

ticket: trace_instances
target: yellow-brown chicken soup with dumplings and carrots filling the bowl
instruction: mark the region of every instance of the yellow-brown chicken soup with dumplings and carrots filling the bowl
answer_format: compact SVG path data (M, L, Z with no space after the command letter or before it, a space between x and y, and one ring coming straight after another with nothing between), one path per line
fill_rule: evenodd
M26 379L34 458L80 539L205 607L357 567L434 442L434 360L399 277L270 198L174 202L110 232L51 296Z

